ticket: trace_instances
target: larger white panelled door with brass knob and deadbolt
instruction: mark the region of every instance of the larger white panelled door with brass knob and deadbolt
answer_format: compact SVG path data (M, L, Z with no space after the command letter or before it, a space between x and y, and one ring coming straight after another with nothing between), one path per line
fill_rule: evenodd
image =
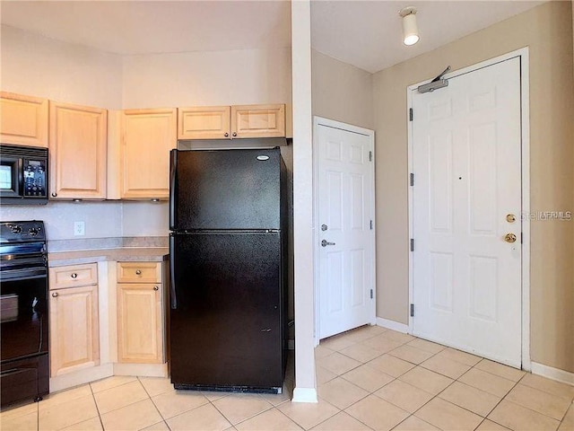
M413 334L520 367L520 58L412 103Z

